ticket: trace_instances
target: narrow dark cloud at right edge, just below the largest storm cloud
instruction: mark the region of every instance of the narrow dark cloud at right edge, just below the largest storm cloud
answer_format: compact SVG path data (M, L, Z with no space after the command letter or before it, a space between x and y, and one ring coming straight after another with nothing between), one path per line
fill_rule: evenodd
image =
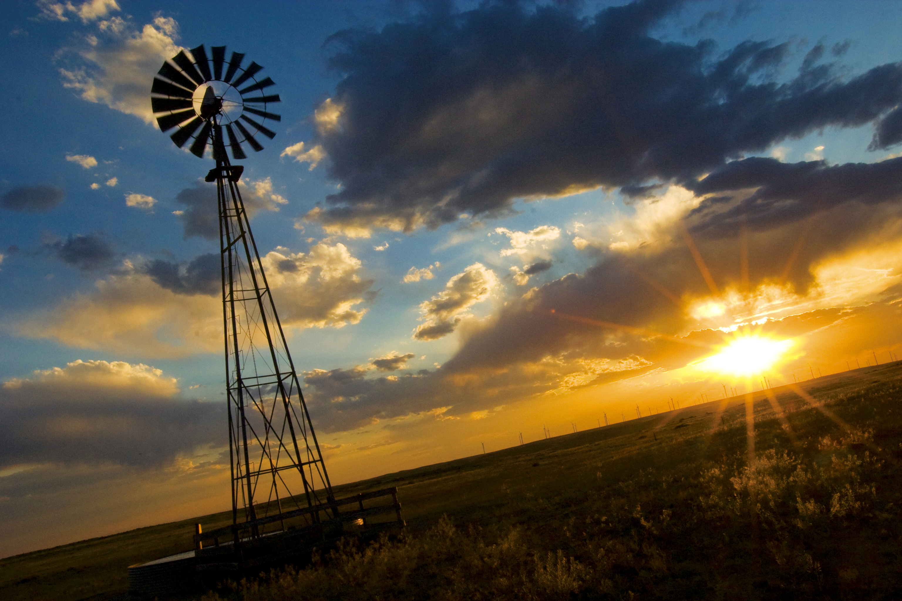
M734 235L743 225L769 230L846 203L867 211L872 209L861 205L898 203L902 159L828 166L823 160L782 163L755 157L733 161L693 187L696 195L755 188L738 203L730 196L705 199L690 215L693 232L721 237Z

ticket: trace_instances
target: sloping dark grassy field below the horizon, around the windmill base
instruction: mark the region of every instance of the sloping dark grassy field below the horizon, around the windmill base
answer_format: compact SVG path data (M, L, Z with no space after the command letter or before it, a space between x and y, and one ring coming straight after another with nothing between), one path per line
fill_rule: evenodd
M892 363L337 487L399 487L410 532L207 598L897 598L900 401ZM122 596L228 519L0 560L0 596Z

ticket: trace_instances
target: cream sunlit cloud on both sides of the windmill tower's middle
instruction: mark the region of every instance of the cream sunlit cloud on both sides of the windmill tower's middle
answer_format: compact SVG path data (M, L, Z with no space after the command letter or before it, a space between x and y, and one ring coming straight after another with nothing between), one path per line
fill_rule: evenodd
M285 327L344 327L366 314L356 305L373 296L361 261L344 244L319 243L307 253L272 251L262 258ZM142 269L98 280L89 293L23 318L16 331L71 347L184 357L222 347L222 301L216 294L164 287ZM130 269L130 270L128 270ZM165 282L162 282L165 284Z

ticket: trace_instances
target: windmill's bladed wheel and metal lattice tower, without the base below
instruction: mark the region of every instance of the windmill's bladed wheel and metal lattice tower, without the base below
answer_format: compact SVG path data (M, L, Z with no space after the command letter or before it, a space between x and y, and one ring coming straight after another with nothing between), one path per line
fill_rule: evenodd
M262 150L247 126L272 139L275 133L261 122L281 120L280 115L267 112L267 105L280 98L263 95L262 90L274 82L270 77L256 79L262 67L255 62L242 67L244 54L233 52L226 61L225 46L210 50L212 59L198 46L190 50L190 58L181 51L163 63L153 80L151 102L161 131L178 128L170 138L179 148L193 139L189 147L193 154L203 158L209 146L216 160L206 180L216 183L219 211L237 542L239 524L332 504L335 498L244 210L238 184L244 167L232 165L226 153L231 149L234 159L246 158L244 142ZM258 96L249 96L252 93ZM305 519L317 521L319 513L307 514ZM250 532L259 536L262 528L254 524Z

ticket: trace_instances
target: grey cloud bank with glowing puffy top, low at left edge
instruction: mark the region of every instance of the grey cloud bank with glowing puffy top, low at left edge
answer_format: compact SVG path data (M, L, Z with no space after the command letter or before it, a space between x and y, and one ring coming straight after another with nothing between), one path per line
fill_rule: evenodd
M198 446L226 442L220 404L179 400L145 366L122 366L77 361L6 382L0 387L0 466L160 467ZM124 370L137 374L130 378Z

